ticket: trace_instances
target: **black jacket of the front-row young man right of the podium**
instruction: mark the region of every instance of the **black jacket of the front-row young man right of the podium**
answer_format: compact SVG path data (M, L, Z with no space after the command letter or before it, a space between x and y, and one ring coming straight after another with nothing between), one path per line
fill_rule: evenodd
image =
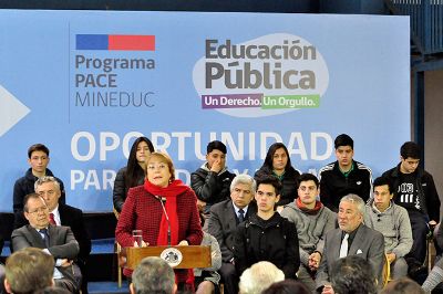
M296 225L277 212L269 220L253 214L237 227L234 255L238 275L254 263L269 261L286 279L296 279L300 266Z

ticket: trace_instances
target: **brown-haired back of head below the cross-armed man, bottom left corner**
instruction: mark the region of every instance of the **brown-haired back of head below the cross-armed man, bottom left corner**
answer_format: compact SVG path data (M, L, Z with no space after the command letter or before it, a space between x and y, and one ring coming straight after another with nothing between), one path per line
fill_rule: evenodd
M32 293L52 285L54 259L41 249L27 248L9 256L4 270L12 293Z

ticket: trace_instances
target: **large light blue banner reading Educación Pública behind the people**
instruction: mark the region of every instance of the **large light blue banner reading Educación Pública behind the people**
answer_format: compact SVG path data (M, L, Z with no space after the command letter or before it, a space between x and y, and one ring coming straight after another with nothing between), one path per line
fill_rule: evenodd
M111 211L141 135L187 183L214 139L236 174L275 141L317 174L346 133L374 176L410 139L408 17L1 10L0 28L1 211L35 143L68 203Z

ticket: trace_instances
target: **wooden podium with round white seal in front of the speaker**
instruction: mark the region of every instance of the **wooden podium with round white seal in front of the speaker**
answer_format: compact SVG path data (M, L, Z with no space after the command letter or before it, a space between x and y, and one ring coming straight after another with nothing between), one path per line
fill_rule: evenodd
M202 245L125 248L122 250L122 255L126 256L125 267L130 270L135 270L138 263L144 258L148 256L162 258L166 260L173 269L212 266L210 246Z

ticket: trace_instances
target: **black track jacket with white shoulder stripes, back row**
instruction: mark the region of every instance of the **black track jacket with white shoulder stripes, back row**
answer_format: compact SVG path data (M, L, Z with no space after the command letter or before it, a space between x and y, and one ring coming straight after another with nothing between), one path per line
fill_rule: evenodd
M340 199L349 193L360 196L363 201L372 195L372 170L365 165L352 160L353 170L344 177L339 162L334 161L319 170L320 200L330 210L339 210Z

